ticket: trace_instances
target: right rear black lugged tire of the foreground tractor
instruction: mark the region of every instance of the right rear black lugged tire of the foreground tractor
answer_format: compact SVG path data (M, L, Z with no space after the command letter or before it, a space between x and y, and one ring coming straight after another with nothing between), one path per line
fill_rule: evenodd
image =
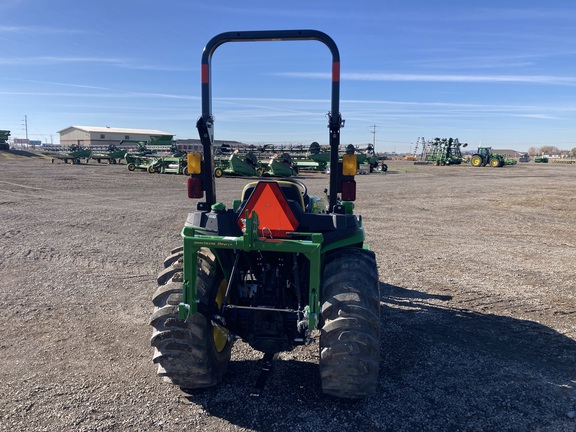
M346 248L326 259L322 285L322 391L356 399L376 392L380 289L374 252Z

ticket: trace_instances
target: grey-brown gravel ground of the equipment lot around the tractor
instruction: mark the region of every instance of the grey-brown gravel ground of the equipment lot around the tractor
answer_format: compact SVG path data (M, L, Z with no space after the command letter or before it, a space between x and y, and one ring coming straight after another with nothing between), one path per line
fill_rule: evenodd
M254 399L261 356L242 343L218 387L155 374L150 298L194 207L185 177L0 154L0 430L575 431L576 167L389 167L357 177L377 396L323 396L314 344ZM218 179L219 199L244 183Z

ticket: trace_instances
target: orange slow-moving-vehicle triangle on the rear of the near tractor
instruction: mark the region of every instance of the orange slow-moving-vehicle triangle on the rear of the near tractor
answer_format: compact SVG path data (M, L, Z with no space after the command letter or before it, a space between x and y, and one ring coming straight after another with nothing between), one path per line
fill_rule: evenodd
M246 211L249 214L255 211L258 215L258 234L262 237L286 237L287 232L295 231L298 227L298 219L276 182L259 182L256 185L238 218L241 228Z

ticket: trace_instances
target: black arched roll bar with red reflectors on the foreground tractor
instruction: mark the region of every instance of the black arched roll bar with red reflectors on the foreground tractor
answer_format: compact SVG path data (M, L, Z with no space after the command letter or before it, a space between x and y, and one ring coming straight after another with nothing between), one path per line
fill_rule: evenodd
M317 40L326 45L332 53L332 102L328 113L328 128L330 130L330 190L329 211L337 203L338 191L338 148L340 146L340 129L343 126L340 115L340 54L338 47L327 34L318 30L265 30L245 32L225 32L214 36L204 47L202 53L202 116L198 119L196 127L200 134L200 141L204 151L202 172L205 173L206 204L209 208L216 202L214 185L214 117L212 116L211 93L211 60L214 51L226 42L259 42L259 41L297 41Z

